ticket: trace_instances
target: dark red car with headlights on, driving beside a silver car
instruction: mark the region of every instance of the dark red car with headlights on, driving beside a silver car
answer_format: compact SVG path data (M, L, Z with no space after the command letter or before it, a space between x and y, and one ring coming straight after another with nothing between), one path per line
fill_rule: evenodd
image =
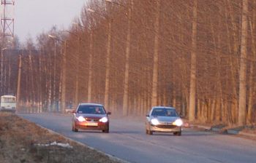
M109 132L109 118L111 112L106 112L104 106L97 103L80 103L73 112L72 131L102 130Z

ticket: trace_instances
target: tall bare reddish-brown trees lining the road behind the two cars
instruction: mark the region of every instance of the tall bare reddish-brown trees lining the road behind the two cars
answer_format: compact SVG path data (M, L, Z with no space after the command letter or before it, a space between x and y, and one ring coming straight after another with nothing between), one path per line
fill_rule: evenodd
M255 1L90 0L68 31L25 46L20 102L124 116L175 106L190 121L252 124L255 31Z

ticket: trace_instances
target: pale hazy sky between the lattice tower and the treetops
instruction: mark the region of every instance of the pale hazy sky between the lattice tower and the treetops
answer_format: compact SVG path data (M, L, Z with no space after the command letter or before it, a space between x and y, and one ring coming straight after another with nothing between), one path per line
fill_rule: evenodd
M53 25L68 28L86 0L15 0L15 35L20 42L30 35L33 39ZM34 40L35 41L35 40Z

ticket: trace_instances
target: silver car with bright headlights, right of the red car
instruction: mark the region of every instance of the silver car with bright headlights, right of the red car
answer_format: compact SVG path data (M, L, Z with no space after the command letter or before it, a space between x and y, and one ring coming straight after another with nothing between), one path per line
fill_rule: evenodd
M146 115L146 134L153 132L173 132L173 135L181 135L183 122L176 108L154 106Z

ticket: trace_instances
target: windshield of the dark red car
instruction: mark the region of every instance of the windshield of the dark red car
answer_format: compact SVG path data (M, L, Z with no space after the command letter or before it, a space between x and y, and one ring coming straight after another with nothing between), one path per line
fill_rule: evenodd
M105 114L105 110L102 106L83 106L78 108L78 114Z

